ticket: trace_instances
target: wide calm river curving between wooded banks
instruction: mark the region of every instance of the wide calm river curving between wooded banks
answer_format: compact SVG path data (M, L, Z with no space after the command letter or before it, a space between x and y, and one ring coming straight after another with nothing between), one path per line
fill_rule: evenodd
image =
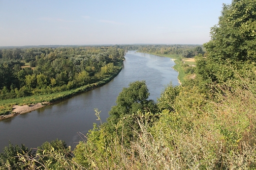
M179 85L174 61L167 57L128 51L123 70L108 84L30 113L0 121L0 152L10 141L13 145L41 146L45 141L64 140L75 146L96 121L94 108L105 121L118 94L130 82L146 80L150 99L157 101L164 87Z

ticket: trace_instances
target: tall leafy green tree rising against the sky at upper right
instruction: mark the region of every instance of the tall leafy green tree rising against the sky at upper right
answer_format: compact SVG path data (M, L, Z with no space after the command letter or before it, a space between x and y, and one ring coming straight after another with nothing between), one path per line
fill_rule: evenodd
M203 67L207 69L202 77L225 82L234 76L233 71L256 62L256 1L224 4L219 23L210 33L211 40L204 44L207 60Z

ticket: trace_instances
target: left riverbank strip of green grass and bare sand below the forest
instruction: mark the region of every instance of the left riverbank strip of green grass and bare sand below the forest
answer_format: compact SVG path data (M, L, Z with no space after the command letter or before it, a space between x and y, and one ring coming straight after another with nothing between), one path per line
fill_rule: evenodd
M21 98L2 100L0 101L1 103L0 107L1 108L6 107L8 109L6 112L8 112L9 114L0 115L0 121L23 114L23 113L28 113L38 108L52 104L54 102L61 101L61 100L73 97L75 95L81 94L83 92L88 92L90 90L93 90L97 87L107 84L114 77L116 77L118 73L121 72L121 70L122 70L122 63L119 64L119 69L117 69L115 73L107 76L106 78L98 82L88 84L76 89L72 89L72 90L68 90L60 93L48 94L48 95L30 96L30 97L21 97Z

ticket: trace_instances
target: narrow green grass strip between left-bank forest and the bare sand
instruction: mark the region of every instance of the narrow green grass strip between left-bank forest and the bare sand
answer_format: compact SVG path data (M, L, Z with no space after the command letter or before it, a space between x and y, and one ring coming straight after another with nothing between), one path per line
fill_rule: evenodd
M96 83L81 86L76 89L71 89L71 90L67 90L67 91L59 92L59 93L52 93L52 94L45 94L45 95L33 95L33 96L29 96L29 97L19 97L19 98L0 100L0 115L11 114L13 105L26 105L26 104L30 105L30 104L41 103L41 102L53 103L53 102L61 101L66 98L75 96L77 94L95 89L99 86L102 86L102 85L108 83L115 76L117 76L118 73L120 73L122 70L122 63L119 63L118 66L119 66L119 69L117 69L116 72L112 73L111 75L108 75L104 79L102 79Z

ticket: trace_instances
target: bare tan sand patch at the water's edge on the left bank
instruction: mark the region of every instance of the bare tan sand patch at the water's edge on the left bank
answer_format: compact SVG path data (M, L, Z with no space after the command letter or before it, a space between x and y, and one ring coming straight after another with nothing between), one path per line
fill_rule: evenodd
M36 110L38 108L44 107L48 104L50 104L50 103L49 102L42 102L42 103L36 103L36 104L31 104L31 105L23 105L23 106L13 105L12 106L12 113L9 114L9 115L0 116L0 120L10 118L10 117L14 117L14 116L17 116L17 115L23 114L23 113L28 113L28 112L31 112L31 111Z

